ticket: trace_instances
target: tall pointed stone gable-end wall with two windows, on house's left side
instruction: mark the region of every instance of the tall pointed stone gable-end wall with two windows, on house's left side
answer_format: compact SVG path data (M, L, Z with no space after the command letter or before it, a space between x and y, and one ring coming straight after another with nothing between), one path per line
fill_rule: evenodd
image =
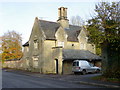
M33 72L42 73L45 36L36 18L29 39L29 68Z

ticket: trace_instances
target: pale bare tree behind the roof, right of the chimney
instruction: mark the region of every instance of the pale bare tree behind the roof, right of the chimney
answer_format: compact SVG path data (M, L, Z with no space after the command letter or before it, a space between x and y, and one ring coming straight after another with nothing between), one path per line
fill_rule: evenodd
M72 25L77 25L77 26L83 26L85 25L85 22L80 16L72 16L70 19L70 23Z

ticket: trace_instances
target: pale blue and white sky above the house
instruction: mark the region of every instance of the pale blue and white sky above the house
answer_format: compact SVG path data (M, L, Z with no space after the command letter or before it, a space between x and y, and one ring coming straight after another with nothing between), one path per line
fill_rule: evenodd
M25 1L25 0L24 0ZM61 1L1 1L0 2L0 36L9 31L22 34L22 44L29 40L35 17L39 19L54 21L58 19L58 8L67 7L67 17L79 15L83 20L88 20L94 14L97 2L76 0L69 2Z

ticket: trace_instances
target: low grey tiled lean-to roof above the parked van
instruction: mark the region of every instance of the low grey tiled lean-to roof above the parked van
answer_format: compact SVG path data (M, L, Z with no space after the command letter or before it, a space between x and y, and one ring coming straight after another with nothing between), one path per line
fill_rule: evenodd
M75 60L75 59L91 59L91 60L101 60L100 56L88 51L88 50L73 50L64 49L63 50L64 60Z

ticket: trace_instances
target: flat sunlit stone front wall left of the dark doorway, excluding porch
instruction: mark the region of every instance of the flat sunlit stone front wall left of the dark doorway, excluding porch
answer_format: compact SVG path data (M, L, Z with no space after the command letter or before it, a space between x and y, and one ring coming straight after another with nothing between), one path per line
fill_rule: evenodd
M52 40L44 41L43 73L55 73L54 58L52 56L53 47L55 47L55 41L52 41Z

